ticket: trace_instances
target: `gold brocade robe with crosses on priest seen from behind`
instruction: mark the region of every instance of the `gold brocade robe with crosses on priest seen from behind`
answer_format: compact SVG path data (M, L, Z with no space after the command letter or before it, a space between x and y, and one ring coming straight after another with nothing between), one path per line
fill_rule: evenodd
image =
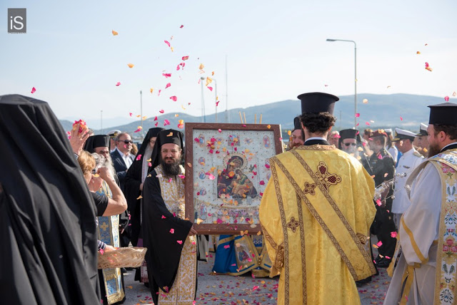
M368 232L374 182L333 145L300 146L270 159L259 217L278 304L360 304L354 280L376 273Z

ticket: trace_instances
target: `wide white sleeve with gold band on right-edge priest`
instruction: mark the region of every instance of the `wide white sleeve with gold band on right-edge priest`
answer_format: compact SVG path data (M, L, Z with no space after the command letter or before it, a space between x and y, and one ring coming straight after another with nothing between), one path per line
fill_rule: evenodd
M398 234L408 264L425 263L428 250L438 239L441 212L441 179L430 162L416 178L411 205L401 218Z

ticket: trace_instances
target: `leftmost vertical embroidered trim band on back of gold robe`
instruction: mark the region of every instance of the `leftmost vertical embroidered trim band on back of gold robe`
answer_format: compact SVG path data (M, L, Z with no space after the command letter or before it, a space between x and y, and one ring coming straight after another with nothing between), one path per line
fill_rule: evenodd
M284 246L282 244L278 247L278 255L283 255L284 262L284 304L289 303L289 269L288 269L288 235L286 227L286 214L284 213L283 197L281 196L281 189L279 188L278 172L276 172L276 164L272 162L277 160L276 157L270 159L271 175L273 176L274 188L276 190L276 198L278 199L279 214L281 215L281 226L284 234ZM286 251L284 251L286 249ZM281 250L281 251L280 251ZM276 256L276 261L278 260ZM275 262L276 264L276 262ZM275 265L276 266L276 265ZM281 269L278 269L281 270Z

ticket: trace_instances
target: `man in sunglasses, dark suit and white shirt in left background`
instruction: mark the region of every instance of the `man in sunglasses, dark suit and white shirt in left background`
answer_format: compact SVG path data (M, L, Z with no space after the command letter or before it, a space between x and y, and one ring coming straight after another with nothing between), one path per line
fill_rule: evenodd
M127 170L134 162L135 156L130 153L133 141L128 133L119 133L116 138L116 149L111 153L114 169L121 183L121 190L124 192L124 181Z

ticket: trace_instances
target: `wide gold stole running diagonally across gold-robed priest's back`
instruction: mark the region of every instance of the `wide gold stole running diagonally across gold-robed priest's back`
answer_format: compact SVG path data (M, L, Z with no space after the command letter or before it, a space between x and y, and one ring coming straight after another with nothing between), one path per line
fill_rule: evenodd
M375 274L376 269L374 269L373 262L371 262L371 255L368 254L363 246L367 242L366 236L354 232L328 192L328 187L341 182L341 177L328 172L325 162L319 162L316 172L316 170L309 167L296 150L290 150L290 152L296 157L293 165L286 168L277 157L272 157L270 159L271 165L273 165L272 171L276 170L273 167L278 166L286 175L297 195L308 207L313 217L316 218L328 238L331 239L353 279L358 281ZM305 171L303 171L303 168ZM312 182L306 182L303 188L298 185L293 177L304 177L306 173L308 174L307 178L311 178L307 180ZM313 202L318 202L318 205L313 205ZM293 224L289 223L287 225Z

